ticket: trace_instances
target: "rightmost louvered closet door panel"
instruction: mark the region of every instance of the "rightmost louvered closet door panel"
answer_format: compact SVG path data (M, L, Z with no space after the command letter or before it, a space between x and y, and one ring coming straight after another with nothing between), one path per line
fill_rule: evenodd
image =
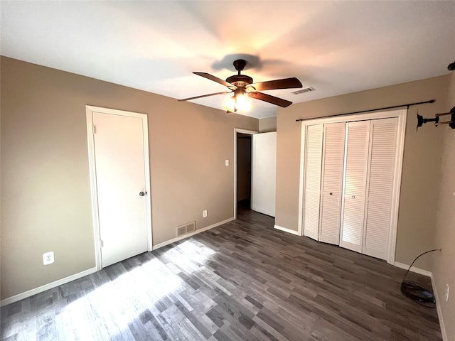
M379 259L387 259L390 240L397 128L397 117L371 121L363 254Z

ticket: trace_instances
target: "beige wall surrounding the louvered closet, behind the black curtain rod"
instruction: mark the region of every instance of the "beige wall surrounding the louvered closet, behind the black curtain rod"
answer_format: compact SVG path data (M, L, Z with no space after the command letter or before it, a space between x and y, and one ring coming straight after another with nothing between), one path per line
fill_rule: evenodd
M296 119L326 117L378 107L436 99L434 104L410 107L407 116L396 261L410 264L415 256L434 247L441 163L441 129L432 124L416 132L416 113L434 117L446 109L448 77L434 77L375 90L293 104L277 115L277 215L275 223L298 227L301 124ZM423 257L422 257L423 258ZM430 269L431 257L416 264Z

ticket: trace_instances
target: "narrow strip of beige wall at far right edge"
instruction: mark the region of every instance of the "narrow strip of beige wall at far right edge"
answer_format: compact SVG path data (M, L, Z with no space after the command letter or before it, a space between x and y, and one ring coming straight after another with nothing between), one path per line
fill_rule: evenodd
M455 72L450 74L446 110L455 107ZM448 117L444 117L447 120ZM436 247L441 252L433 255L433 277L439 296L439 305L447 333L446 340L455 340L455 129L439 126L444 137L442 146L441 176L439 182L439 201L437 207ZM449 302L445 301L446 283L449 284Z

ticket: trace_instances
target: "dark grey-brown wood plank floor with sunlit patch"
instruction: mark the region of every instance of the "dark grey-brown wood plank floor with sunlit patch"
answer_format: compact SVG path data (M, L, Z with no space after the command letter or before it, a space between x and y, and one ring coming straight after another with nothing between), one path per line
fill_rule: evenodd
M273 224L240 209L233 222L6 305L1 339L441 340L436 309L400 293L404 270Z

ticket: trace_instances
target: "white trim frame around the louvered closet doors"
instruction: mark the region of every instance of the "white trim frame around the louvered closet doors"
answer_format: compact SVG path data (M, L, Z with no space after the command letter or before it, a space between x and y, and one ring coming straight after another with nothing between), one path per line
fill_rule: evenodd
M397 151L395 153L395 172L393 177L393 193L390 212L389 247L387 251L387 263L395 264L395 249L397 244L397 223L398 209L400 203L400 184L402 177L403 152L405 146L405 131L407 120L407 109L390 110L386 112L370 112L364 114L341 115L334 117L323 117L301 121L301 142L300 142L300 180L299 180L299 226L298 234L304 235L303 212L304 212L304 170L306 153L306 126L313 124L326 124L336 122L367 121L371 119L387 119L397 117Z

